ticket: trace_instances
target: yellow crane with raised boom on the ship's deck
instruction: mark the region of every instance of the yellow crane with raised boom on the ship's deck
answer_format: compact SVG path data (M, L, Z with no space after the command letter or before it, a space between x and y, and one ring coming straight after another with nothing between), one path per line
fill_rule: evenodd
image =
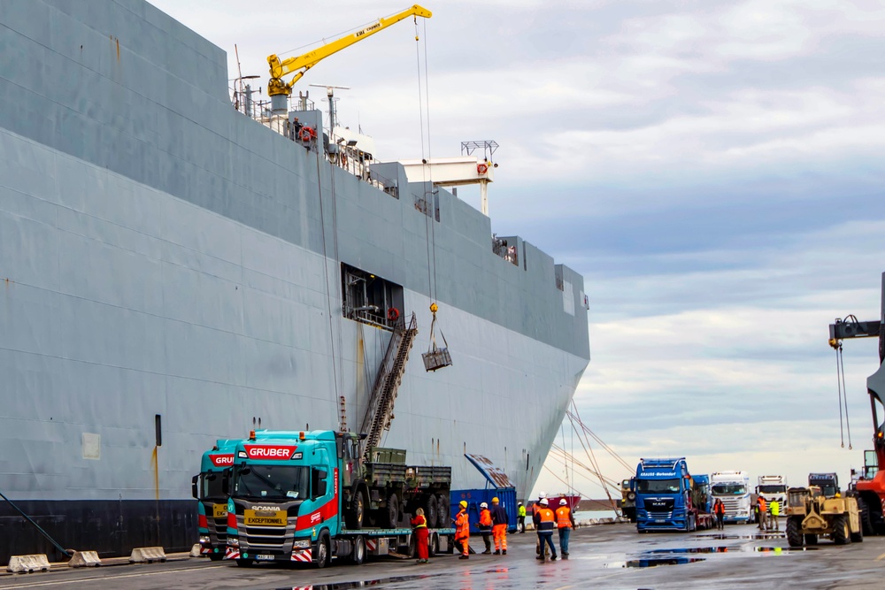
M276 54L268 56L267 63L271 66L271 79L267 82L267 94L270 96L289 96L292 94L292 87L295 83L298 80L301 80L304 73L310 70L314 65L317 65L319 60L325 59L333 53L337 53L338 51L350 47L350 45L362 41L363 39L366 39L366 37L378 33L391 25L395 25L400 20L408 19L409 17L415 17L416 20L418 17L429 19L431 16L433 16L431 11L415 4L411 8L402 12L378 19L377 22L374 22L368 27L361 28L356 33L349 34L332 42L327 42L315 50L308 51L304 55L288 57L283 60L281 60L280 57L277 57ZM288 76L293 72L296 74L291 81L287 82L283 80L284 76Z

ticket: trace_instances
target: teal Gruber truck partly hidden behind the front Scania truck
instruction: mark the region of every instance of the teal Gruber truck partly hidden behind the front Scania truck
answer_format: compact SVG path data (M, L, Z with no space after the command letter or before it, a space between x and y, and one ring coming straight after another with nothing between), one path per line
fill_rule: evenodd
M227 478L234 466L237 442L216 441L215 446L203 454L200 472L191 480L197 500L200 553L212 561L223 558L227 550Z

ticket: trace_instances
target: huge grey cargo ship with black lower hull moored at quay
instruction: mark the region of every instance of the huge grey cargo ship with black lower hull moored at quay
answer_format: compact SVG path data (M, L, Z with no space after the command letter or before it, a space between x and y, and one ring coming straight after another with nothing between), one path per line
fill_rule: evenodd
M531 491L589 363L580 274L310 104L245 111L142 0L4 3L0 48L0 563L59 556L21 513L190 548L202 453L257 427L381 419L454 487L473 454Z

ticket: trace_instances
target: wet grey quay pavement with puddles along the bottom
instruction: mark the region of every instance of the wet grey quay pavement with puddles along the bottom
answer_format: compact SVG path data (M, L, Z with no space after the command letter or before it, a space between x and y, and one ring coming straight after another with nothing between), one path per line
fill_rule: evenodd
M598 525L573 532L569 559L535 560L535 534L511 534L507 556L438 556L427 565L385 558L317 570L265 563L240 568L175 556L166 563L0 576L14 588L875 588L885 587L885 537L837 547L821 540L790 549L780 534L750 525L722 533L636 533L632 525ZM554 535L554 540L556 539ZM480 539L473 539L481 546ZM475 547L475 546L474 546Z

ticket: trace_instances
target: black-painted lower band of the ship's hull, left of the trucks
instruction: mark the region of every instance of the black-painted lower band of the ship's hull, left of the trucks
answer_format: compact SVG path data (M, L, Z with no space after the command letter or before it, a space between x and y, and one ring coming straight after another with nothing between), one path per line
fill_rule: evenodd
M196 501L26 501L14 500L64 548L127 556L135 547L189 551L198 540ZM65 556L33 525L0 500L0 563L10 556L44 553L50 562Z

